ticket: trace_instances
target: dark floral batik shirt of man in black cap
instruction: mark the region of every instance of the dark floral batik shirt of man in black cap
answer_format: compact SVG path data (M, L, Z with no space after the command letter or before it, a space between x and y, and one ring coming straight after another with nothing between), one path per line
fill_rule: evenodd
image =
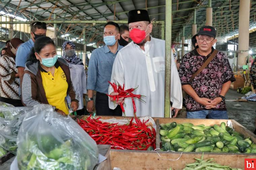
M212 52L214 48L212 47ZM199 73L191 82L192 75L201 68L203 63L212 54L202 56L194 49L187 53L183 58L180 66L181 84L190 84L199 97L205 97L213 100L220 95L222 86L227 81L235 81L234 74L229 65L226 55L218 51L214 59ZM185 97L187 111L206 110L203 105L196 102L191 96ZM217 104L214 110L226 110L225 101Z

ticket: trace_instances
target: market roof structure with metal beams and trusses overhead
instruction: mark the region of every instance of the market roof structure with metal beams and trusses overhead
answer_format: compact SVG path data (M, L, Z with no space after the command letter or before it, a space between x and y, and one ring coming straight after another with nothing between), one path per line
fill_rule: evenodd
M193 15L197 29L205 24L206 7L213 8L213 26L218 35L238 32L239 0L172 0L172 41L183 35L191 37ZM152 20L165 20L165 0L1 0L0 15L5 13L33 20L127 20L128 11L147 9ZM56 15L54 15L56 14ZM255 27L256 0L251 0L250 26ZM56 18L54 18L56 16ZM53 26L53 24L49 24ZM86 43L102 42L104 24L58 24L58 36L69 33L81 38L86 32ZM155 25L152 35L161 38L161 26Z

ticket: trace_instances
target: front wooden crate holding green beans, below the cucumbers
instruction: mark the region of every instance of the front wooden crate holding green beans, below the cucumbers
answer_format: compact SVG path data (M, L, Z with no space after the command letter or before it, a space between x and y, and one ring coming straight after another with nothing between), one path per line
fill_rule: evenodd
M177 159L181 153L158 152L154 151L121 151L110 150L111 168L118 167L121 170L166 170L172 167L172 170L181 170L187 163L195 162L194 158L200 158L202 153L183 153L177 161L168 161L162 159ZM245 158L256 158L256 155L248 154L204 154L204 159L214 158L221 165L230 165L232 168L244 169Z

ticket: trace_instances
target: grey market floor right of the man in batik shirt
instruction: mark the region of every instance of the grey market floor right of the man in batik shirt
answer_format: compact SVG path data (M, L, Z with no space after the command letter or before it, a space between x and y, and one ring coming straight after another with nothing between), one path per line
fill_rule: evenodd
M226 94L226 100L237 99L245 95L239 94L236 90L229 89ZM235 107L235 104L241 104L241 107ZM255 130L255 119L256 119L256 102L237 102L237 101L226 101L228 118L234 119L250 131Z

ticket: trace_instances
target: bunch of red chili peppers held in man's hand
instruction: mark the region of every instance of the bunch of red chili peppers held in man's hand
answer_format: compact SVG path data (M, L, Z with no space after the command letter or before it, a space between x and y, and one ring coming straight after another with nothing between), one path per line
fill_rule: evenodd
M118 101L118 99L121 98L121 97L124 97L124 98L131 97L132 98L133 113L134 113L134 116L136 117L136 105L135 105L134 97L136 97L138 99L141 99L141 97L146 97L146 96L142 96L140 94L133 94L132 93L138 87L124 90L124 84L123 84L123 87L122 87L121 85L119 85L119 84L117 85L116 83L111 83L110 81L108 81L108 83L113 87L114 92L119 93L118 95L108 95L107 94L109 97L113 97L114 102ZM144 100L142 100L142 101L144 101ZM122 112L125 114L123 103L120 103L120 107L122 109Z

